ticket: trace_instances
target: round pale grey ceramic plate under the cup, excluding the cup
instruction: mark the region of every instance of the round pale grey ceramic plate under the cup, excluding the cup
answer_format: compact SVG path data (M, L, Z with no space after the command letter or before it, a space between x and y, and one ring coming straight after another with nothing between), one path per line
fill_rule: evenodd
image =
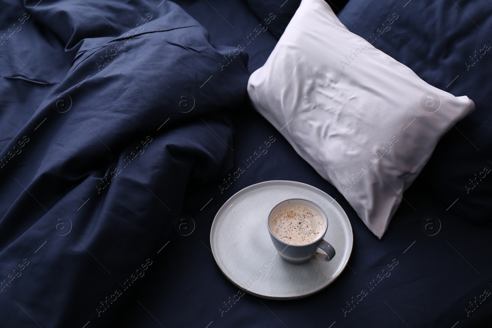
M289 198L307 199L325 210L324 239L337 251L332 261L291 264L279 257L267 216ZM239 288L261 298L293 299L317 293L338 278L350 258L353 234L347 214L330 195L305 183L274 180L253 184L229 198L215 215L210 244L217 266Z

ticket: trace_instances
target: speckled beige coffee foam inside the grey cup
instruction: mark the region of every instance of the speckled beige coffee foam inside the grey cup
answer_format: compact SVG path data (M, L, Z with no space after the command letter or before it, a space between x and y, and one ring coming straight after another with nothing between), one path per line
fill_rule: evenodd
M289 244L304 245L318 239L324 231L324 220L305 206L288 205L280 209L270 222L274 235Z

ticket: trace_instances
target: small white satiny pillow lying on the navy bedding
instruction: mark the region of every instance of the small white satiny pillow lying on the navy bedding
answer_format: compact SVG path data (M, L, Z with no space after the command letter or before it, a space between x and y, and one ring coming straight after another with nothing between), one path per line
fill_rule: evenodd
M347 30L324 0L301 2L248 94L378 238L439 139L475 107Z

